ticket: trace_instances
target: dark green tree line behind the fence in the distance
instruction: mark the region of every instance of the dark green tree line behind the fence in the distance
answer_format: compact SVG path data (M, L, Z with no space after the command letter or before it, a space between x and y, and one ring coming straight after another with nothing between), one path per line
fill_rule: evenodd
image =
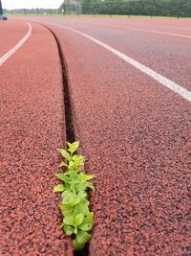
M64 12L191 17L191 0L65 0Z

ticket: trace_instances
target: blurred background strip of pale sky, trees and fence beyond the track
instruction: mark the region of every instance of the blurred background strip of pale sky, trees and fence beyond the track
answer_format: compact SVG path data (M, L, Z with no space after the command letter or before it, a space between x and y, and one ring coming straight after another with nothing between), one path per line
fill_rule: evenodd
M6 14L191 17L191 0L2 0Z

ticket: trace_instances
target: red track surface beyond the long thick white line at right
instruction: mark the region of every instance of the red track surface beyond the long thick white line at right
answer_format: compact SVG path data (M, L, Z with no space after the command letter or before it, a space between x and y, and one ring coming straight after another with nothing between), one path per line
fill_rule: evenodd
M114 47L162 76L191 90L191 20L32 17L69 26ZM151 32L137 31L145 29Z

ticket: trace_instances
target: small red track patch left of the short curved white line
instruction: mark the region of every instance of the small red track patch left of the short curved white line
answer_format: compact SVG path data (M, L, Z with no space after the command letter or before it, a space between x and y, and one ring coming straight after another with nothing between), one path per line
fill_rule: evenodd
M5 55L28 32L29 27L25 22L6 20L0 22L0 57Z

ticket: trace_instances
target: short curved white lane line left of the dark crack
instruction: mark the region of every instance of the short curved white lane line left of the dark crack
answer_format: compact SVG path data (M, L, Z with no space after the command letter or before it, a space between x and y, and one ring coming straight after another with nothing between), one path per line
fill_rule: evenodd
M11 58L11 56L27 41L27 39L30 37L30 35L32 34L32 25L30 23L27 23L29 26L29 30L28 33L13 47L11 48L11 50L5 54L4 56L2 56L0 58L0 66L3 65L3 63L8 59Z

